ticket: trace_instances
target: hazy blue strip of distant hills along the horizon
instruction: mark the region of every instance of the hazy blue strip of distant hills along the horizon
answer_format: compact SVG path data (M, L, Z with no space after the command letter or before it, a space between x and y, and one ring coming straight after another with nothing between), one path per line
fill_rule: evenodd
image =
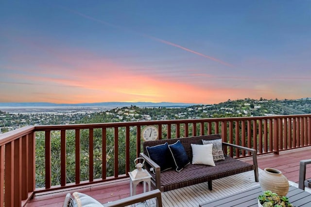
M172 103L172 102L99 102L99 103L79 103L79 104L56 104L49 102L8 102L0 103L0 107L186 107L196 105L193 103Z

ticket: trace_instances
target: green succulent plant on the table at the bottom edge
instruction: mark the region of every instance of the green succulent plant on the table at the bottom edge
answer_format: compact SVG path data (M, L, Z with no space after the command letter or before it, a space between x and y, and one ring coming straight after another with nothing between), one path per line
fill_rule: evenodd
M258 196L259 207L294 207L286 196L277 195L272 191L264 191Z

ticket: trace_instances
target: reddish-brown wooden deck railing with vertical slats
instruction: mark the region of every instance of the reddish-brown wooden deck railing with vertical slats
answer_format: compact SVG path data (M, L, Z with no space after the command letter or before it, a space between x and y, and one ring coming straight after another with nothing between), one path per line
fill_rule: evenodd
M221 133L223 141L235 143L257 149L258 155L279 153L282 150L294 149L311 145L311 114L237 117L214 119L165 120L148 122L118 122L83 125L52 125L29 126L0 134L0 205L24 206L36 192L52 191L69 187L82 186L92 183L105 182L127 177L131 169L130 151L135 150L138 157L141 147L141 130L147 125L158 127L159 139L172 139L204 134ZM45 164L44 187L35 188L36 139L38 133L44 132ZM53 133L58 132L58 133ZM74 132L75 181L68 183L67 163L68 133ZM85 133L86 132L86 133ZM55 135L56 134L56 135ZM87 135L88 179L81 180L82 134ZM52 135L52 136L51 136ZM52 139L60 142L59 184L52 185ZM100 137L99 137L100 136ZM94 152L98 150L94 145L95 139L101 142L101 176L94 177ZM107 151L107 142L113 140L113 148ZM135 142L135 143L133 143ZM131 148L135 144L135 149ZM71 146L73 147L73 146ZM124 152L120 149L124 148ZM110 152L113 151L113 156ZM242 158L250 156L249 152L226 150L230 156ZM113 166L107 166L107 157L114 160ZM125 160L121 155L124 154ZM84 156L84 155L83 155ZM38 158L37 158L38 159ZM124 169L120 169L119 162L125 162ZM37 166L38 167L38 166ZM113 168L112 175L108 175L109 167ZM38 173L38 172L37 172Z

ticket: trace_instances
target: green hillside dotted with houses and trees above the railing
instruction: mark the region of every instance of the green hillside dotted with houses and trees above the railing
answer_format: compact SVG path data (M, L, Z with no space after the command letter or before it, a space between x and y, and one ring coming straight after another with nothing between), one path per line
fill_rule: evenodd
M0 111L0 133L28 125L107 123L217 117L270 116L311 113L311 99L238 99L219 104L187 107L138 107L135 105L97 111L5 112Z

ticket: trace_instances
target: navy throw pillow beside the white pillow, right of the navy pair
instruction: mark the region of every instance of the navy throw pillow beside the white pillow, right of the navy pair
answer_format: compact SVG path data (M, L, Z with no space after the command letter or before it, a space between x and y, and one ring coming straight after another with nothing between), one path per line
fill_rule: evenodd
M177 172L180 172L186 165L190 163L183 144L178 140L176 143L169 145L173 156L173 162Z

